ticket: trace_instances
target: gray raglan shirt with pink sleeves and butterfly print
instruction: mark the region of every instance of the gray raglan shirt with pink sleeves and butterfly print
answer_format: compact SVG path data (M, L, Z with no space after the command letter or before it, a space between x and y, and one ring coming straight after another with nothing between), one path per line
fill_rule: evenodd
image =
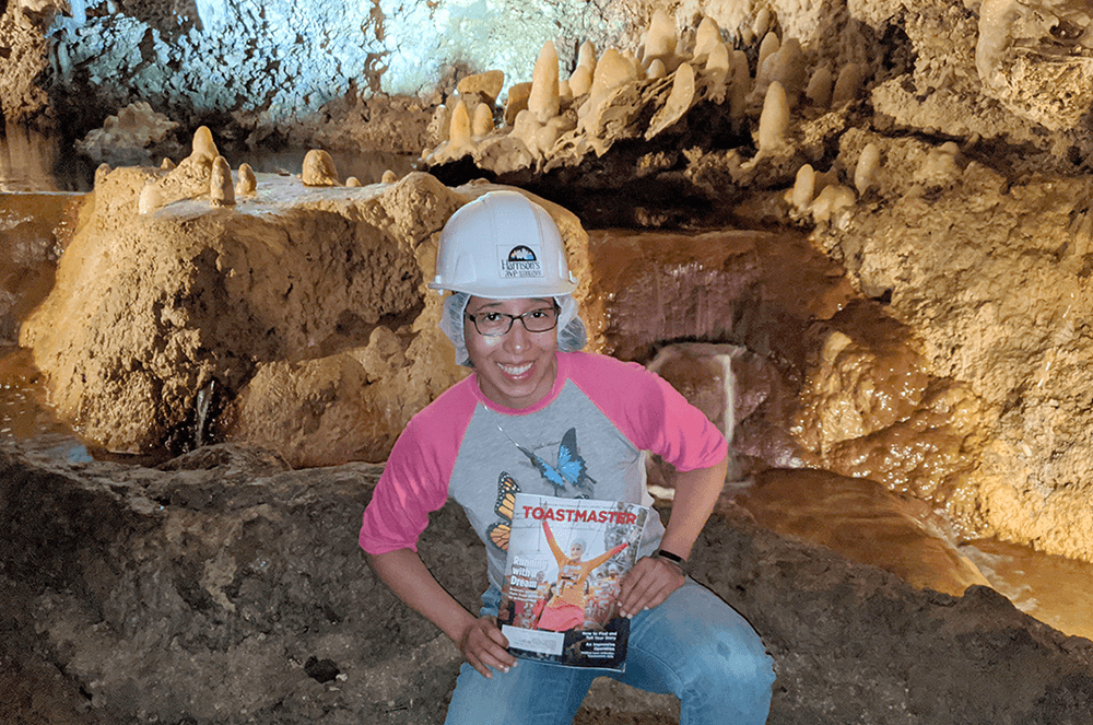
M501 588L515 493L648 506L646 451L681 470L725 457L717 428L640 365L589 353L557 353L557 363L550 394L530 408L497 406L472 375L415 416L365 511L361 546L415 549L428 512L450 496L485 542L490 583ZM653 516L639 554L663 531Z

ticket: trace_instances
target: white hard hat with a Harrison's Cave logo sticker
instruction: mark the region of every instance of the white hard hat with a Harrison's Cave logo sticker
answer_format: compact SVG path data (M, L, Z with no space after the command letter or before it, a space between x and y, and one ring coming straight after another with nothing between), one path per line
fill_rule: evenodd
M577 289L557 224L519 191L490 191L451 215L428 287L491 300L553 297Z

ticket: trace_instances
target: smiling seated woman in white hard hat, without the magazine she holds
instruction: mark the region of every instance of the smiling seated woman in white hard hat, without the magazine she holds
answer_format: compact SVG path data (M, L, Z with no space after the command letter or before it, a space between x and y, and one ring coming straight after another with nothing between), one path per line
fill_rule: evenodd
M517 664L496 623L517 493L649 506L645 458L680 471L667 528L654 516L623 576L631 618L624 673L610 676L680 699L692 725L766 721L773 660L736 610L685 576L721 491L728 446L696 408L635 363L580 352L556 224L517 191L463 206L440 234L440 328L473 374L418 413L399 436L364 512L361 546L399 598L462 652L448 725L572 723L598 669ZM428 514L458 502L485 543L490 586L475 617L416 552Z

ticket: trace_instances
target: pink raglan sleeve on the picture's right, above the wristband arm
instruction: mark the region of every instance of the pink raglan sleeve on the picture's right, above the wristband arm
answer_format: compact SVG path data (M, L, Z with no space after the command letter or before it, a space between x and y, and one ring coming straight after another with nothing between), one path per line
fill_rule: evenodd
M631 442L681 471L708 468L728 455L725 436L675 388L637 363L576 353L574 379Z

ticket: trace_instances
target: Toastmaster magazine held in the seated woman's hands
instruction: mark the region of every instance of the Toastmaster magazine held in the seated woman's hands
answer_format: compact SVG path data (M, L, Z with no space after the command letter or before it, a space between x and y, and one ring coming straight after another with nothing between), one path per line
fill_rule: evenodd
M516 657L623 671L623 575L649 508L517 493L497 622Z

